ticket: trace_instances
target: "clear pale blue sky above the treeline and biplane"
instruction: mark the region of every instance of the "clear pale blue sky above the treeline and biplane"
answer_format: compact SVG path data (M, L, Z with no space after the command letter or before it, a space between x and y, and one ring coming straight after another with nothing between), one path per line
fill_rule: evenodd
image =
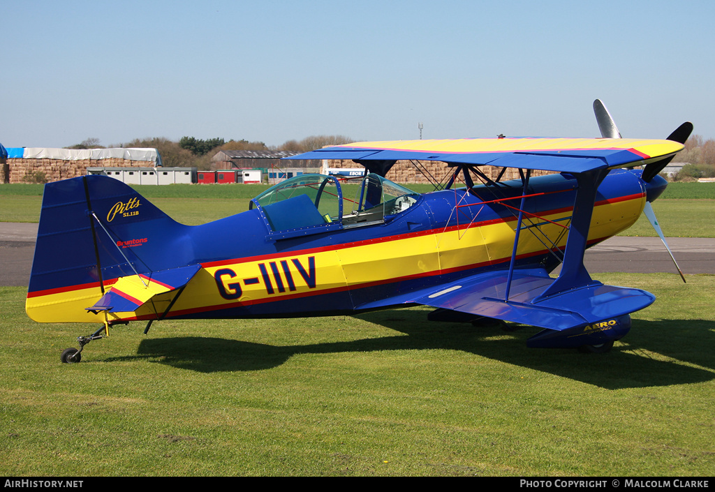
M0 0L0 143L715 138L715 2Z

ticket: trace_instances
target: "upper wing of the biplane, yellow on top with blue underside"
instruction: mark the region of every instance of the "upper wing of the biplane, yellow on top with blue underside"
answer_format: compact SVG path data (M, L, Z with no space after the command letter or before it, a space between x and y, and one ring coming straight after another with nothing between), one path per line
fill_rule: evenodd
M359 142L313 150L287 159L431 160L554 172L633 167L672 157L684 145L671 140L497 138Z

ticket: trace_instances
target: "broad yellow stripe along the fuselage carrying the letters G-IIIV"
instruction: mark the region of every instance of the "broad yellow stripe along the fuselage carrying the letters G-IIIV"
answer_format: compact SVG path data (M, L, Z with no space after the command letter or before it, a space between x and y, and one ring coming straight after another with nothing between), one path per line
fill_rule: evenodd
M645 197L635 196L597 205L588 239L602 240L630 227L638 219L644 204ZM551 244L543 235L555 240L557 247L566 245L566 230L544 219L558 221L570 216L570 210L560 210L542 218L525 220L523 227L540 224L541 232L535 230L535 234L531 234L528 229L522 230L517 255L525 257L545 252L544 242L548 246ZM568 225L568 220L558 224ZM168 316L320 295L505 263L511 257L515 227L516 219L460 225L334 248L206 264L187 284ZM34 295L28 297L26 310L36 321L103 323L103 313L94 315L85 311L101 295L98 286ZM168 305L170 295L173 293L159 294L136 313L108 313L109 319L155 318L155 309L148 305L158 301L162 306Z

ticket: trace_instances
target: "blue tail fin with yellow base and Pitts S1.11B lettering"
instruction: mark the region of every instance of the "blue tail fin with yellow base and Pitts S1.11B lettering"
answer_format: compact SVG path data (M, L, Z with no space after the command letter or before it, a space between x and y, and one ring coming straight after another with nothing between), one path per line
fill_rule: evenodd
M119 277L187 265L189 228L111 177L46 184L28 315L36 321L87 320L85 308Z

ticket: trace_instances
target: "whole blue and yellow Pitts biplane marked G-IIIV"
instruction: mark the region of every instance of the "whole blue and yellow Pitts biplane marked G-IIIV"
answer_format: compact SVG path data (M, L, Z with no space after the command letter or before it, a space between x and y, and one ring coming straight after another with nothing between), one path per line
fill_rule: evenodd
M290 159L347 159L365 174L298 175L204 225L175 222L112 177L46 184L26 312L99 323L64 363L132 321L147 333L158 320L409 305L435 308L433 320L541 328L530 347L605 352L655 297L593 280L584 252L651 214L666 187L658 174L692 124L667 139L626 139L600 101L594 109L601 138L361 142L300 154ZM438 190L388 180L398 160L444 162ZM486 166L501 171L489 177ZM503 179L510 168L518 177ZM532 175L539 169L551 173Z

